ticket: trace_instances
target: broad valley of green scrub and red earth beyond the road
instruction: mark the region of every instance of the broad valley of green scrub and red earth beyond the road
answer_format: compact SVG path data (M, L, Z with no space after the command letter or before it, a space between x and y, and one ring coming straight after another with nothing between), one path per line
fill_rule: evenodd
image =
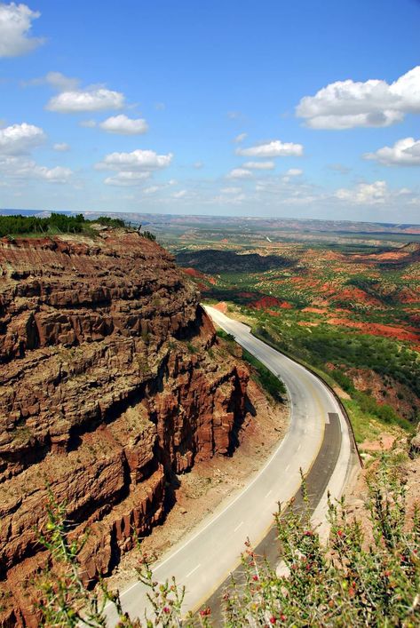
M182 250L172 244L202 298L225 302L256 335L343 393L358 441L382 428L412 431L420 406L419 243L365 242L366 234L355 242L341 233L306 242L297 231L294 242L280 232L267 242L262 229L227 235L195 228Z

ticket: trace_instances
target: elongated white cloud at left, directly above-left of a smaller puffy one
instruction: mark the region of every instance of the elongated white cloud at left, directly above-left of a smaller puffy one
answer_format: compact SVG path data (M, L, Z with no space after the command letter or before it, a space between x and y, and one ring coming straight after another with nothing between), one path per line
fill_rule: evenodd
M121 109L123 105L123 93L107 90L105 87L96 87L86 90L62 91L49 100L46 108L60 114L75 114L83 111Z

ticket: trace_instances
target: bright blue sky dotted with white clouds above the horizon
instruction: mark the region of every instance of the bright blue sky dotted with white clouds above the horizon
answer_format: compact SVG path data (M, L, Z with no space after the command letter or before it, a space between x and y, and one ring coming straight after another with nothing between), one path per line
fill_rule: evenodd
M0 207L420 223L419 0L0 2Z

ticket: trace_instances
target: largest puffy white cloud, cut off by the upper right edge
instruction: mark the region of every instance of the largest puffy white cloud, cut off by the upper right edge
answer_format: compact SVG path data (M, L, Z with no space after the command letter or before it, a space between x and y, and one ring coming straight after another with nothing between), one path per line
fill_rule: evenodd
M330 83L314 96L301 99L296 113L312 129L352 129L400 122L407 113L420 114L420 66L391 84L376 79Z

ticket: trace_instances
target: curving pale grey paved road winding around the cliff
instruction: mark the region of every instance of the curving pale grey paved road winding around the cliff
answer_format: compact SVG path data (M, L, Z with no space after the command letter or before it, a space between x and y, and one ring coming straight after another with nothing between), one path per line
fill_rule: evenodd
M186 586L185 610L198 608L218 591L226 576L237 567L247 537L252 545L260 545L264 539L266 544L277 503L289 501L299 489L300 468L304 473L312 467L318 469L316 490L313 489L317 496L313 519L322 522L327 486L333 496L339 497L353 460L345 417L329 389L303 366L251 336L250 329L242 323L212 307L206 310L214 322L281 376L289 392L290 422L279 447L248 486L221 505L194 534L172 548L155 566L157 581L175 576L178 584ZM121 600L131 617L144 616L147 600L142 584L134 583L125 589ZM107 618L108 625L115 625L112 608Z

